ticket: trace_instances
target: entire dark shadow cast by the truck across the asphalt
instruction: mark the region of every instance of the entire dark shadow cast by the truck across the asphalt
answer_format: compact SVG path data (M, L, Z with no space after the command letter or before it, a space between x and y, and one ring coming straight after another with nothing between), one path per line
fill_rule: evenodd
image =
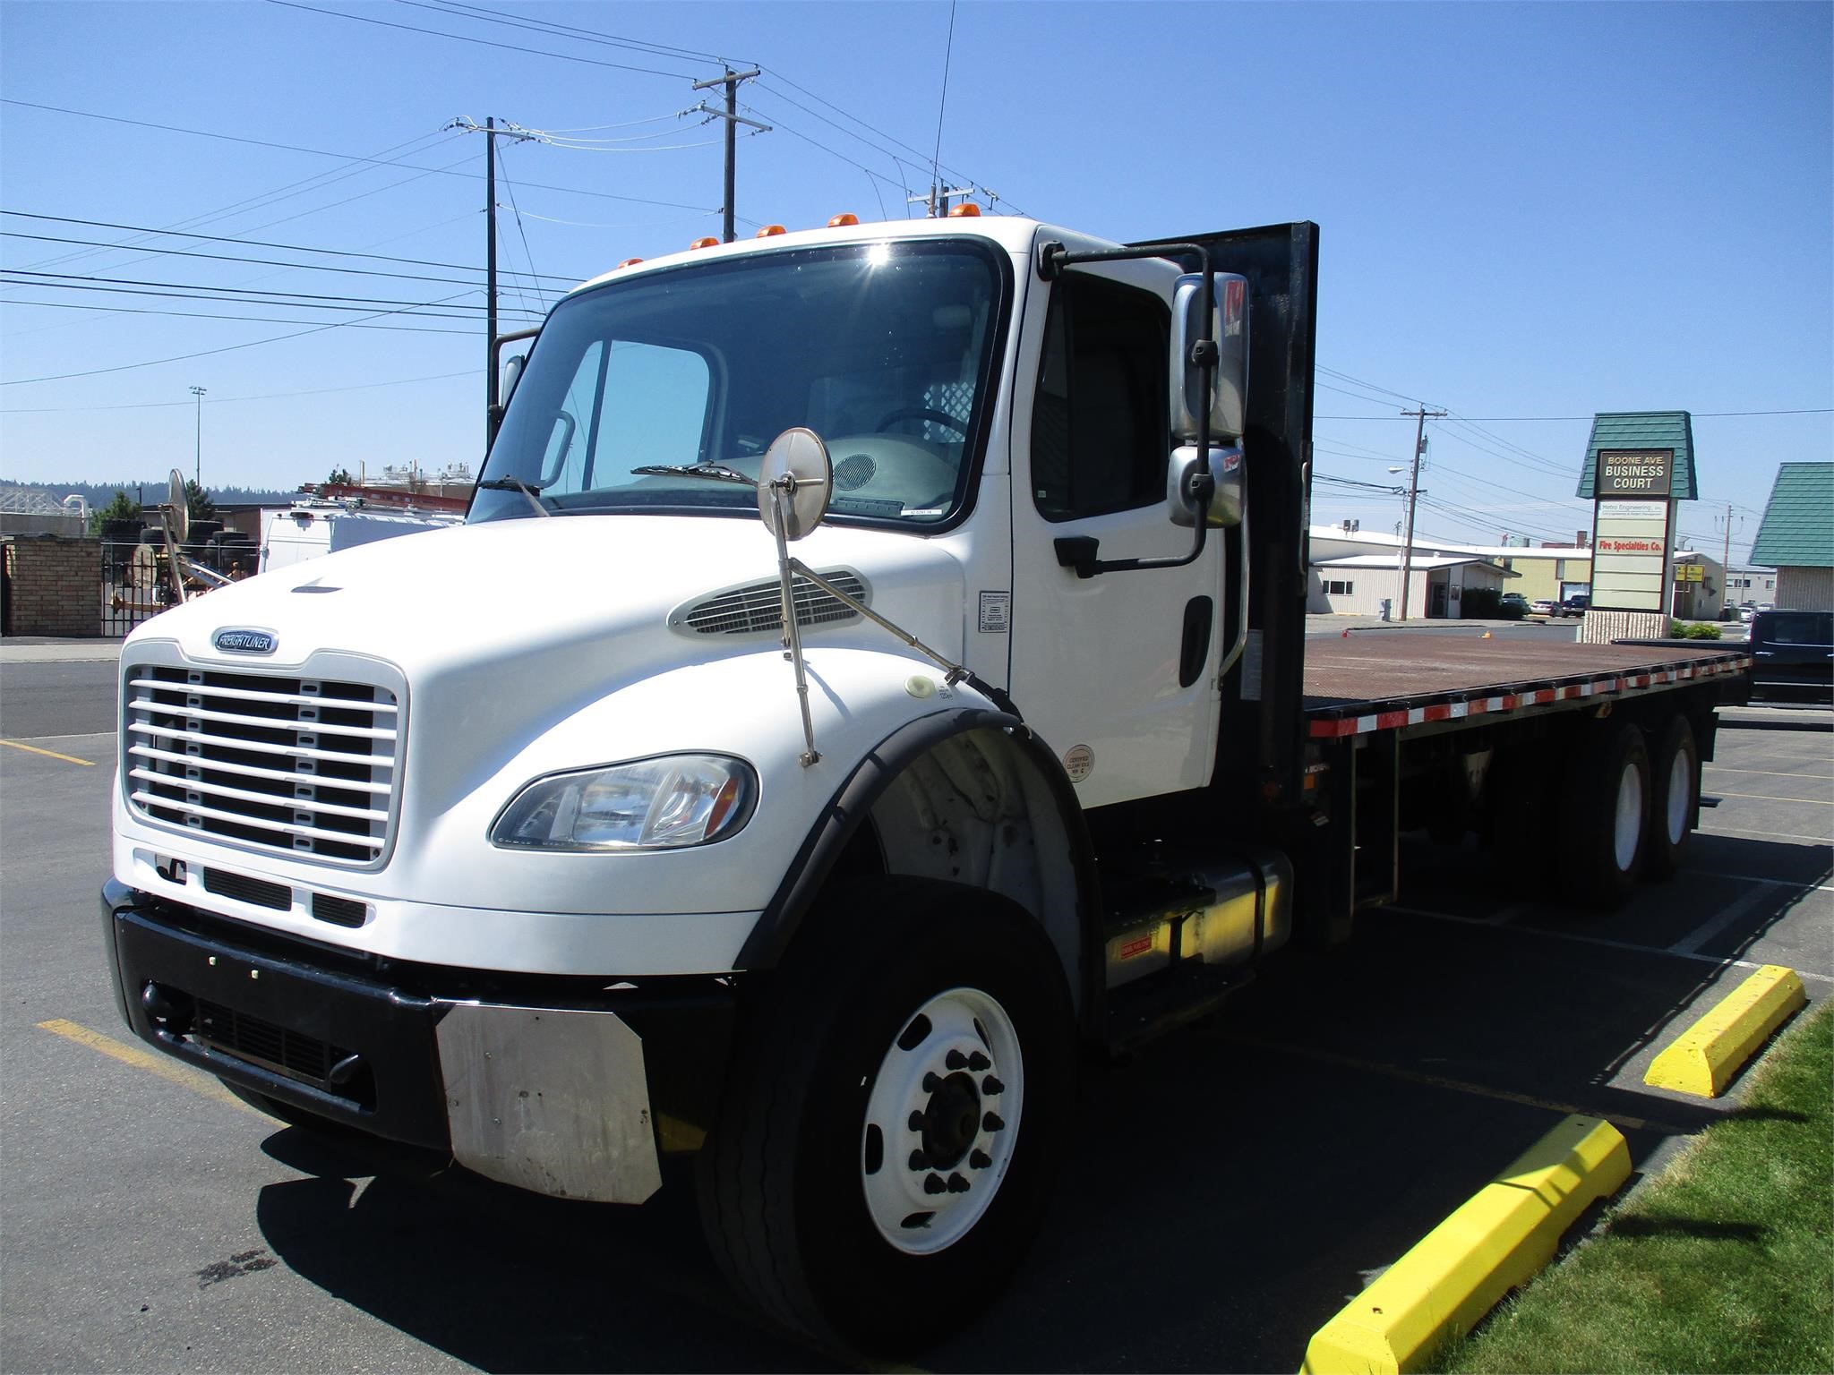
M1031 1260L923 1364L1297 1370L1326 1318L1564 1113L1610 1116L1641 1170L1739 1111L1645 1089L1641 1065L1748 974L1720 961L1828 862L1825 847L1711 840L1711 873L1651 886L1612 918L1511 889L1478 851L1434 854L1409 896L1449 920L1364 913L1348 948L1286 952L1216 1018L1091 1065ZM1665 952L1733 904L1700 952L1718 959ZM834 1368L728 1292L686 1179L611 1208L297 1129L268 1151L308 1175L260 1194L273 1252L473 1366Z

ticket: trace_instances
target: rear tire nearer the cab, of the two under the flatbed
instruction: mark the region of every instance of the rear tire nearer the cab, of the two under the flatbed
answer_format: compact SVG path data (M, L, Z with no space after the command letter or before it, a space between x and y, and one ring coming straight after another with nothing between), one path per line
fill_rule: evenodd
M1561 886L1574 904L1616 911L1632 891L1649 847L1649 748L1629 720L1583 732L1561 788Z

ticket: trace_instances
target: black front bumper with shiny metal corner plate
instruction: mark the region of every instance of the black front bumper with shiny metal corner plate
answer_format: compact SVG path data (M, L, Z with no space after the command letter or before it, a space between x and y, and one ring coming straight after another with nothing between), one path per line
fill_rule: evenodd
M101 913L136 1036L209 1074L561 1197L640 1203L713 1120L735 996L713 979L403 964L149 896Z

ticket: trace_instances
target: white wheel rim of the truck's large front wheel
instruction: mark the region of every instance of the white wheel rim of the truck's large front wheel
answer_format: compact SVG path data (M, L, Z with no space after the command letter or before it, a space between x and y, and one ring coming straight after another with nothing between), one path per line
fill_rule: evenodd
M906 1018L878 1062L860 1128L860 1182L878 1234L911 1256L965 1238L1007 1177L1025 1063L1007 1010L950 988Z

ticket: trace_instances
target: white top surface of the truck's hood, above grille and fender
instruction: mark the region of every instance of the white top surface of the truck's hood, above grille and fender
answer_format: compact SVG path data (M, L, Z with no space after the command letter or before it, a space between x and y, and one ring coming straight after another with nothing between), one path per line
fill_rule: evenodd
M818 572L858 574L873 610L961 656L965 578L945 541L823 526L794 552ZM380 658L407 678L409 730L420 746L462 739L451 766L460 768L464 755L466 772L488 770L534 730L629 682L774 651L770 631L704 634L669 618L776 576L776 541L757 521L488 521L363 544L218 588L147 622L123 660L145 640L174 640L198 664L262 673L297 669L326 649ZM264 631L273 649L222 651L218 631ZM803 644L893 642L847 618L805 625ZM710 678L710 706L717 691ZM427 763L420 754L416 768Z

